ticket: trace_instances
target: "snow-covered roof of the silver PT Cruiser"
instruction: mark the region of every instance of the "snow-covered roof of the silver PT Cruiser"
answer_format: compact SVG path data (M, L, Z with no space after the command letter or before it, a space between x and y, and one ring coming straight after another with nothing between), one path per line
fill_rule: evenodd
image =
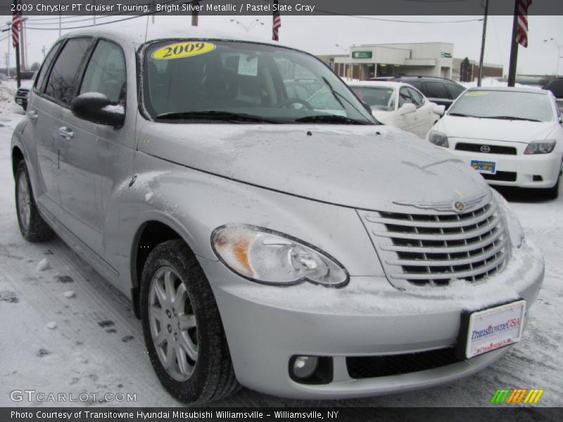
M267 41L251 37L247 34L233 34L231 32L221 32L210 30L202 27L156 27L148 26L145 33L145 25L138 27L130 27L125 30L113 30L109 28L87 28L84 30L75 30L63 35L62 38L72 38L79 36L90 37L103 37L121 42L123 44L132 43L135 46L144 44L146 41L155 41L158 39L182 39L182 38L197 38L197 39L224 39L228 41L250 41L259 42L260 44L271 44L274 46L285 46L279 42Z

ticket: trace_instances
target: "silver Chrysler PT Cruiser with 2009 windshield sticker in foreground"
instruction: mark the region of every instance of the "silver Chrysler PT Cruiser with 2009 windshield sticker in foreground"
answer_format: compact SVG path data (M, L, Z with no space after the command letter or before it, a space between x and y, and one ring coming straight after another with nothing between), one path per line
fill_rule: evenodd
M23 237L56 232L131 298L170 394L424 388L521 338L543 260L479 174L377 124L315 56L160 31L59 39L11 157ZM292 72L339 113L289 97Z

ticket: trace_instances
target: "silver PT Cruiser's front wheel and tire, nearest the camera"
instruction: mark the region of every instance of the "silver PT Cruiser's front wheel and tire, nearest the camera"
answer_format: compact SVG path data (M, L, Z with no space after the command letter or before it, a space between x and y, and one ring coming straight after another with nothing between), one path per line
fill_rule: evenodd
M167 241L151 251L140 300L148 355L172 396L204 403L239 387L213 291L186 243Z

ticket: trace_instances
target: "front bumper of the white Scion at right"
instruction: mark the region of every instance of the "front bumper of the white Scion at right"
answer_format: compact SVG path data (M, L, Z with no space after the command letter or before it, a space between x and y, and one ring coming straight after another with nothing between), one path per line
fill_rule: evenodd
M467 139L459 139L460 142L468 142ZM512 180L502 180L495 178L487 179L489 184L499 186L518 186L521 188L551 188L557 183L559 172L562 167L561 154L553 151L549 154L524 155L527 144L518 142L505 141L483 141L483 144L495 146L512 146L517 149L517 155L491 154L491 153L474 153L468 151L455 150L456 139L452 139L452 145L449 151L458 155L471 165L472 160L494 161L496 163L496 171L515 174L516 178ZM475 142L472 142L475 143ZM481 145L481 143L478 143ZM500 175L500 173L498 173ZM512 176L512 175L510 175ZM534 178L535 177L535 178Z

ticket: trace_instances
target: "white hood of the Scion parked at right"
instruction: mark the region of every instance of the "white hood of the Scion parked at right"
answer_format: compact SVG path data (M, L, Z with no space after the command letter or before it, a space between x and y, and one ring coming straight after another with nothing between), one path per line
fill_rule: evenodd
M545 139L553 130L553 122L524 120L478 119L446 115L436 130L452 138L483 139L529 143Z

